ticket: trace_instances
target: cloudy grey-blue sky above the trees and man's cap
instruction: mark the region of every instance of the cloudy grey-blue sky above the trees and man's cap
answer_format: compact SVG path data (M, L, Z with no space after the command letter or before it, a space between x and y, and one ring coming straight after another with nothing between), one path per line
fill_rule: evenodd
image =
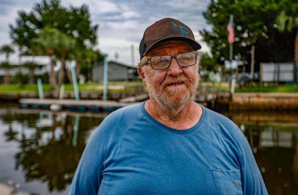
M8 24L14 24L18 10L29 12L41 0L0 0L0 45L10 44ZM135 48L135 63L140 60L139 44L145 29L165 17L175 18L191 28L196 41L208 51L199 30L210 29L202 13L209 0L62 0L63 6L89 6L92 24L99 24L97 48L109 59L131 64L131 44ZM4 55L0 56L3 59ZM16 58L16 54L11 58Z

